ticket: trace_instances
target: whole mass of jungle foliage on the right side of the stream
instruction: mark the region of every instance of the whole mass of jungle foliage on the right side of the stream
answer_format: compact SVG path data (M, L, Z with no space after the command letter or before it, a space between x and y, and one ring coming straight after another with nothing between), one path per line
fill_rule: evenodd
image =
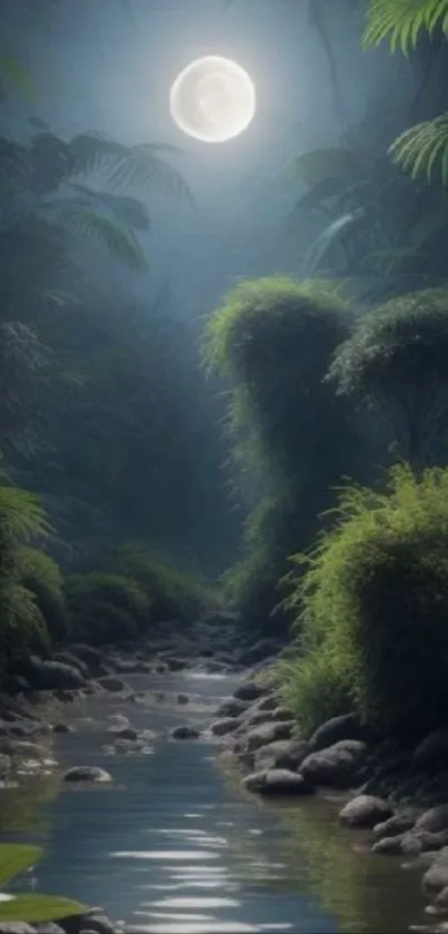
M245 283L207 324L251 509L225 584L247 625L292 623L278 672L306 735L357 709L415 740L448 718L448 3L352 6L366 55L389 41L414 63L415 125L380 99L298 156L287 233L321 227L298 278Z

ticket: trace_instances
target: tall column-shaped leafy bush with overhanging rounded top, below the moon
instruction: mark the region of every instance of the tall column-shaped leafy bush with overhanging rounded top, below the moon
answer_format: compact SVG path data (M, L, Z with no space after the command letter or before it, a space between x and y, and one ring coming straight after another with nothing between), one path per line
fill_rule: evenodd
M359 479L351 403L325 382L352 321L332 283L283 276L240 283L207 319L205 362L231 382L228 431L249 510L225 592L248 628L285 625L270 615L288 554L312 540L331 488Z

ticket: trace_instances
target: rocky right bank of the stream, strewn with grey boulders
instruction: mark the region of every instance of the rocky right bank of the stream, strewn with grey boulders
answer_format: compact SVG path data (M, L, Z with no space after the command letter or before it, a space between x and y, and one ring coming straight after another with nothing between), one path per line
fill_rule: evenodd
M242 681L211 726L222 737L221 760L238 763L241 785L266 799L342 794L340 823L370 834L378 859L400 858L422 874L427 927L445 931L448 913L448 767L446 730L414 750L380 740L349 714L322 724L308 739L283 704L276 666ZM365 837L364 837L365 839ZM444 926L445 925L445 926Z

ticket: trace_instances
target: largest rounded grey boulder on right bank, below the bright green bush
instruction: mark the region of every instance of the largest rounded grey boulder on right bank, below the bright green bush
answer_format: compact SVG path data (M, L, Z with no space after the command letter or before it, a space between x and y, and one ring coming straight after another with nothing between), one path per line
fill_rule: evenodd
M349 788L358 777L366 751L365 743L345 739L328 749L311 753L302 761L300 773L311 785Z

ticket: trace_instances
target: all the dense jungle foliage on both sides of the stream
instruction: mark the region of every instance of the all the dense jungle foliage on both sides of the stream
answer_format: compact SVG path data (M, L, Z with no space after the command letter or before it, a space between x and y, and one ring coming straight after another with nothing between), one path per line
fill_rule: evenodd
M408 56L414 97L390 89L280 173L297 267L238 282L201 348L169 285L139 303L86 262L148 265L151 193L195 209L179 151L42 121L0 140L3 674L219 599L247 632L292 625L279 670L306 733L354 708L406 739L446 725L448 2L344 6L366 56ZM309 23L339 112L330 7L309 3ZM0 69L6 94L32 88L20 56ZM210 596L186 556L203 568L215 542L225 570L209 480L225 450L246 518Z

